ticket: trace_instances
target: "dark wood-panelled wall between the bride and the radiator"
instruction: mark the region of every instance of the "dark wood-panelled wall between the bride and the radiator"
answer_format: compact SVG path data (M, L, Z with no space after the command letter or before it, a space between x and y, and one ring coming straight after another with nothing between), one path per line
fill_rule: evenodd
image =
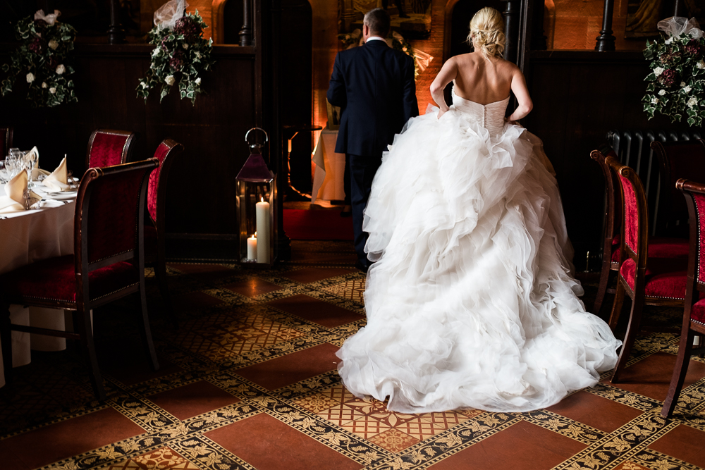
M522 125L544 141L556 168L575 266L598 254L603 218L603 176L590 151L609 130L684 129L643 111L648 63L641 52L532 51L525 75L534 109ZM591 269L597 261L591 261Z

